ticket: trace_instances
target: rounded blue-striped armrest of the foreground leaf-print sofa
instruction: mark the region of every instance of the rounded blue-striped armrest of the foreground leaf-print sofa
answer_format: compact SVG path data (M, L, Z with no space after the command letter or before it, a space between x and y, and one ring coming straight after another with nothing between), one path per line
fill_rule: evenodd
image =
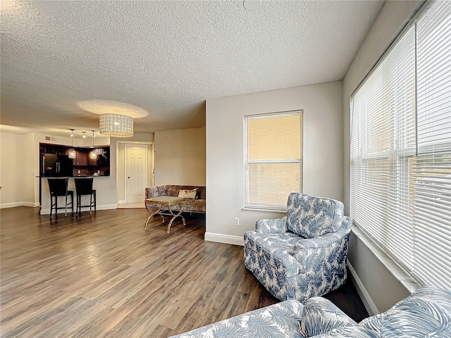
M328 299L313 297L304 303L299 326L306 337L311 337L357 323Z

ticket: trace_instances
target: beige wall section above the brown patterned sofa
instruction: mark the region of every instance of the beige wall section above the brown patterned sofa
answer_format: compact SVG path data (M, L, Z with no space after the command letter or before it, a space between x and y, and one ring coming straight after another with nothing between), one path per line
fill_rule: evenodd
M205 127L155 132L155 184L205 185Z

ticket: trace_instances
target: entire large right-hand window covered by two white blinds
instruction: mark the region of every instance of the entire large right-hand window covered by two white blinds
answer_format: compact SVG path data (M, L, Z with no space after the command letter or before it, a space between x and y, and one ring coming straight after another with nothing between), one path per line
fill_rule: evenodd
M350 105L354 222L416 280L451 288L451 1L429 4Z

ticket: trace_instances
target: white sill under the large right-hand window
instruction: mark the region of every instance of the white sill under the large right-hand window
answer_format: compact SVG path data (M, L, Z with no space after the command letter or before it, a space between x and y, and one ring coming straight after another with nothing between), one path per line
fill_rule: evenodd
M385 268L390 271L390 273L400 281L404 287L409 290L409 292L414 292L416 289L421 287L421 284L416 282L409 273L404 270L393 258L391 258L388 253L385 253L381 246L378 246L371 237L369 237L365 232L363 232L357 225L352 225L352 233L360 239L370 251L378 258Z

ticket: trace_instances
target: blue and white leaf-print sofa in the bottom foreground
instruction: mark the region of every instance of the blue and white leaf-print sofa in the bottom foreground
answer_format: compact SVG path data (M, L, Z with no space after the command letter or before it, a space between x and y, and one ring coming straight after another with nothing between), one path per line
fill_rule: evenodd
M327 299L283 301L171 338L451 337L451 292L421 287L390 310L355 323Z

